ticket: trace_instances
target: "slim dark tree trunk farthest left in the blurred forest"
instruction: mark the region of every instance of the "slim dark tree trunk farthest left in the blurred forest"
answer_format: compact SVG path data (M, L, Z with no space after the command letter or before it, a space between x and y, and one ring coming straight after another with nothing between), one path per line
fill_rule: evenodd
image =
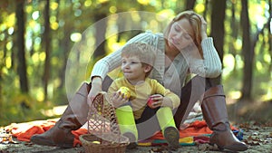
M20 80L20 89L23 93L28 93L28 81L26 76L26 62L24 51L24 0L18 1L16 4L16 24L17 32L17 46L18 46L18 67L17 71Z

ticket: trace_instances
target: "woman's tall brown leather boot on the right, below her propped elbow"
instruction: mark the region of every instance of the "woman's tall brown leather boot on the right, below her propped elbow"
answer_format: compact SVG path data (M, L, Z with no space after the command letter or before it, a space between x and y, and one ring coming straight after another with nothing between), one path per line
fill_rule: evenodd
M248 149L247 145L240 142L230 129L222 85L211 87L205 92L201 109L209 129L213 130L209 143L216 144L220 149L225 148L231 151Z

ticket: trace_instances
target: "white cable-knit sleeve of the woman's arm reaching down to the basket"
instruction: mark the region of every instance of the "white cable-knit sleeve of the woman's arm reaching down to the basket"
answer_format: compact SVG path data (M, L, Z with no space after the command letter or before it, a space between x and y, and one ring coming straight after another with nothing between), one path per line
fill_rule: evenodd
M102 80L106 77L108 72L112 72L115 68L121 66L121 49L129 43L151 43L152 33L141 33L131 38L125 45L119 50L105 56L98 62L96 62L92 68L91 80L93 76L100 76Z

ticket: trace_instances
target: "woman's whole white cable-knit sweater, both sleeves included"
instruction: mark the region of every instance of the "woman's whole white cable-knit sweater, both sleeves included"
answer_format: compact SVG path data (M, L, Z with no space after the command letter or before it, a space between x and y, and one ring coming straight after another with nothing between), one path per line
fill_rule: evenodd
M201 42L204 60L191 51L192 47L188 47L188 49L181 51L176 56L167 70L164 65L165 41L162 33L140 33L131 38L126 44L136 42L148 43L158 49L154 69L150 77L160 81L165 88L178 95L180 95L181 87L184 85L189 72L207 78L218 77L221 73L222 65L219 54L213 45L211 37ZM112 70L121 66L121 48L96 62L92 69L91 78L100 76L103 80L108 72L112 72Z

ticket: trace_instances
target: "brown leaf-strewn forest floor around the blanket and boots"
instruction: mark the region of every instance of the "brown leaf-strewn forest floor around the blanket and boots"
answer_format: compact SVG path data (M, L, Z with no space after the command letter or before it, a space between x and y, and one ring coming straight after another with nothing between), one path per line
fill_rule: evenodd
M239 102L238 104L228 105L228 114L232 124L244 130L243 141L248 145L247 153L272 153L272 101L263 103ZM30 142L16 141L16 143L0 143L0 153L83 153L84 148L57 148L39 146ZM178 150L167 150L163 147L138 147L130 149L127 153L197 153L197 152L228 152L228 150L219 150L210 147L208 144L197 144L195 146L183 146Z

